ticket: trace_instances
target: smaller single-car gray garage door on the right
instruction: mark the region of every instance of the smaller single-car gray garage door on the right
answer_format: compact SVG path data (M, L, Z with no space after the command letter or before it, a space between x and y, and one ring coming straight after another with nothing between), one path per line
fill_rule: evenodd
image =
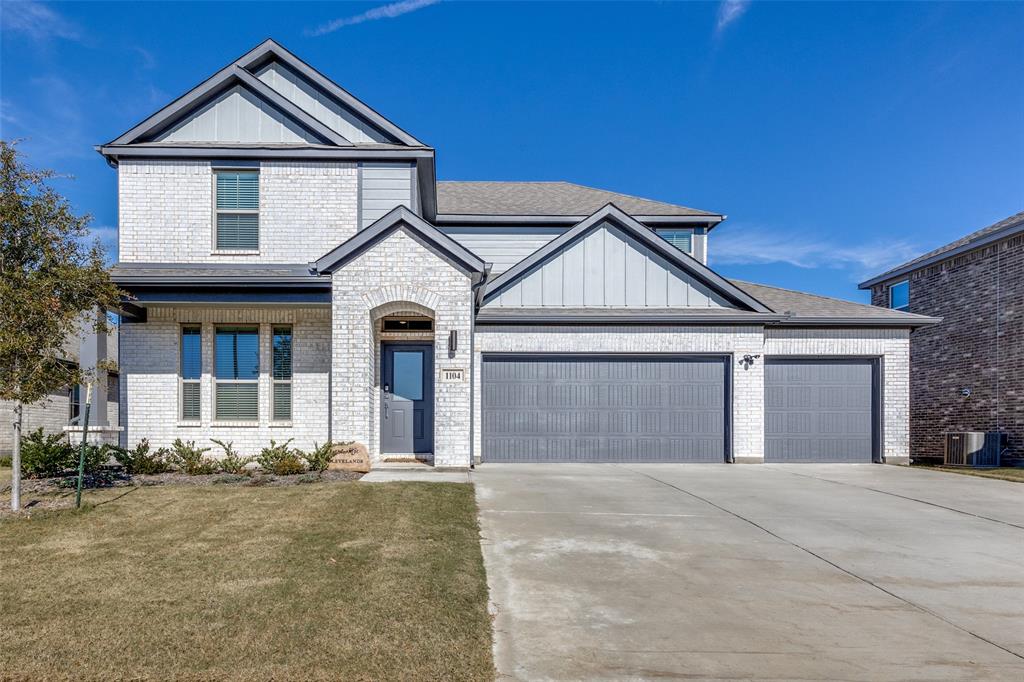
M765 363L766 462L878 459L874 360L769 358Z

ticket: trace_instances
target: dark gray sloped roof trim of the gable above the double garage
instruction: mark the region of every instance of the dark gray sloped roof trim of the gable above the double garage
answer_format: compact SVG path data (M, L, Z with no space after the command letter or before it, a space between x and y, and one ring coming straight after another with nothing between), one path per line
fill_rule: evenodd
M717 294L737 303L739 306L755 312L771 312L763 303L738 289L725 278L709 268L700 261L694 259L689 254L683 253L664 239L654 233L653 230L638 222L634 217L625 213L614 204L607 204L593 215L577 224L572 229L556 237L554 240L541 247L532 254L502 272L486 286L484 299L493 298L506 287L527 276L535 268L543 264L556 253L570 247L578 240L592 229L600 227L605 221L617 225L630 237L651 249L654 253L668 260L672 265L679 267L687 274L695 278Z

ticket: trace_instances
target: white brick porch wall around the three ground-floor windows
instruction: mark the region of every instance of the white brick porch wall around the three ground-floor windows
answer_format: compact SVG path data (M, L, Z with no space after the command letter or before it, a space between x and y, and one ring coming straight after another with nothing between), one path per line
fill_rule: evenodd
M182 324L202 325L201 420L179 419L178 364ZM214 329L217 325L258 325L260 333L259 421L220 424L213 419ZM293 338L292 422L270 420L270 329L291 325ZM122 444L148 438L155 446L175 438L213 446L210 438L233 441L244 455L256 455L270 439L294 438L307 450L329 436L331 318L327 306L161 307L152 306L144 324L121 327Z

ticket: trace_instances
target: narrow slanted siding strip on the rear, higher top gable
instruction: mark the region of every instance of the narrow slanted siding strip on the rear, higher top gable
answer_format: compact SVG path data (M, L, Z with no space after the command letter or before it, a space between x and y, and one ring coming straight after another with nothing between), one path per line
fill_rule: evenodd
M256 76L353 144L394 141L283 63L271 61Z

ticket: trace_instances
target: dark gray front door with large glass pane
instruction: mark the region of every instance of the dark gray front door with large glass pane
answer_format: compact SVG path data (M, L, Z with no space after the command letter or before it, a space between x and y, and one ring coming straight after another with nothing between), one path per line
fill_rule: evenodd
M381 352L381 453L432 453L434 348L385 343Z

